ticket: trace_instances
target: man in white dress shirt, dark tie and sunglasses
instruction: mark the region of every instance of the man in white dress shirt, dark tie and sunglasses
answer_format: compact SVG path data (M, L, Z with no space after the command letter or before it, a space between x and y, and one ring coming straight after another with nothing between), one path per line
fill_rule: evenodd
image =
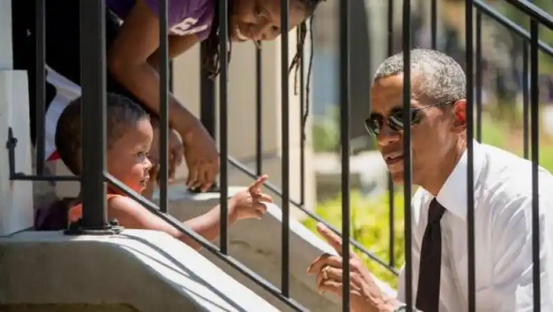
M403 181L403 66L402 53L379 66L366 120L395 183ZM411 73L413 184L420 185L411 205L411 306L468 311L466 77L451 57L424 49L411 51ZM528 160L474 142L476 311L534 311L531 179ZM553 177L539 168L538 181L541 311L553 311ZM318 229L339 253L341 239ZM391 298L355 254L351 259L352 311L406 309L403 269ZM308 270L321 291L341 295L339 255L322 255Z

